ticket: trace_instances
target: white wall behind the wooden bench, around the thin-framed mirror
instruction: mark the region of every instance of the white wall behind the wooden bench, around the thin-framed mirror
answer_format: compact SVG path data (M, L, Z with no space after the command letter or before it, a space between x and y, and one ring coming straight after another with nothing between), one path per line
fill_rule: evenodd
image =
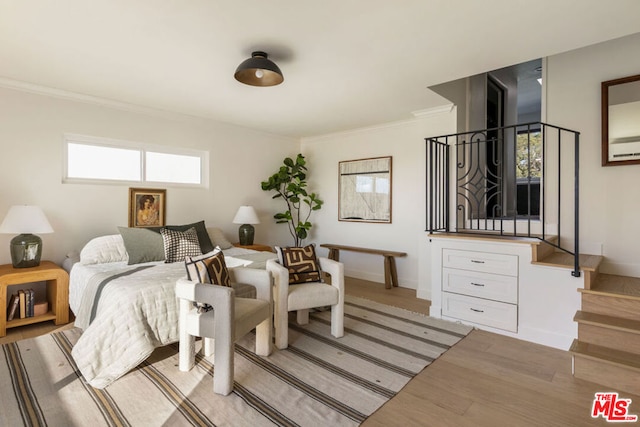
M426 164L424 138L455 133L455 108L435 109L414 120L391 123L302 140L301 151L310 170L309 189L324 200L314 212L310 241L406 252L396 259L400 286L416 289L419 277L429 276L425 241ZM338 162L392 156L392 222L373 224L338 221ZM319 248L319 253L327 255ZM342 251L345 274L384 282L383 259ZM426 269L420 274L421 269Z

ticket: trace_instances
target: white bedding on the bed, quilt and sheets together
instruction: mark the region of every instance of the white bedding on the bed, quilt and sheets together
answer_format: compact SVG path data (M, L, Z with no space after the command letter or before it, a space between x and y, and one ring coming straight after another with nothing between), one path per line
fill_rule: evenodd
M236 257L253 261L248 267L263 268L267 258L276 256L241 248L226 249L224 253L230 268L243 263ZM94 300L93 296L85 296L89 283L101 282L106 272L146 266L150 268L101 286L95 308L86 307ZM96 280L94 276L100 279ZM91 386L108 386L145 360L156 347L178 341L175 284L178 278L185 276L181 262L127 265L122 261L73 266L69 305L74 314L80 315L77 326L84 328L84 332L73 347L72 355Z

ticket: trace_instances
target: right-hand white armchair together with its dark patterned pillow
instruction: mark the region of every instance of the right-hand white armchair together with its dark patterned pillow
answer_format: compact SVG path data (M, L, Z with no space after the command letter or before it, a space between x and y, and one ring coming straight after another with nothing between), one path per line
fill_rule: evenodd
M297 312L300 325L309 322L309 309L331 307L331 335L344 335L344 265L317 257L314 245L295 248L276 246L278 260L267 261L267 270L274 280L275 345L289 345L289 312ZM331 283L322 280L322 273L331 276Z

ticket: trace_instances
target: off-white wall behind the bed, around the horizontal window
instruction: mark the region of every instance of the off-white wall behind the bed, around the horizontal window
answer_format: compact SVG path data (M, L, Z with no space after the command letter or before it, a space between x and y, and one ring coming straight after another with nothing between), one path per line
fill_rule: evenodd
M0 221L11 205L43 208L55 232L41 235L43 259L60 263L92 237L127 226L129 185L62 184L63 134L78 133L210 151L210 188L167 188L167 223L204 219L237 241L233 216L256 207L256 242L283 244L286 229L272 216L279 206L260 188L299 141L245 128L159 112L132 112L0 88ZM144 185L137 185L145 187ZM0 234L0 264L10 263Z

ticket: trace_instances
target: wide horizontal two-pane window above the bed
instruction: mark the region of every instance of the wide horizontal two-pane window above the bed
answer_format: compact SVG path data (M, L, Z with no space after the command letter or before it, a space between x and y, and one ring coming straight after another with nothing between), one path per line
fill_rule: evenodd
M64 182L208 186L206 151L72 134L64 148Z

